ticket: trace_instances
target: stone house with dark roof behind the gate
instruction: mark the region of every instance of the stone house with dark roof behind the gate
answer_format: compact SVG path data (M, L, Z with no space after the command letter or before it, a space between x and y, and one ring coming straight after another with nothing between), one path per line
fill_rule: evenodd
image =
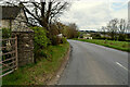
M2 20L0 21L2 28L11 28L12 30L24 30L27 28L26 14L20 7L2 7Z

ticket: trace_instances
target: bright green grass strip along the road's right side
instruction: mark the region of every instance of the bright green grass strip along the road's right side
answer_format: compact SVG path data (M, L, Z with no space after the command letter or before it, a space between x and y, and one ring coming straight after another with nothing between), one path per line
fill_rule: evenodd
M121 50L121 51L130 52L130 45L129 45L128 41L101 40L101 39L77 39L77 38L75 38L74 40L92 42L92 44L118 49L118 50Z

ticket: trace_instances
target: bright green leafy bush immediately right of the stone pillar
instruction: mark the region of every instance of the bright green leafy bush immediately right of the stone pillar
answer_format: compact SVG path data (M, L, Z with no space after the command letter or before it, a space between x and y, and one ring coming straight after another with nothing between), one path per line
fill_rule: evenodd
M50 40L47 37L47 30L43 27L31 27L35 32L34 44L35 44L35 58L43 55L42 49L46 49L50 45Z

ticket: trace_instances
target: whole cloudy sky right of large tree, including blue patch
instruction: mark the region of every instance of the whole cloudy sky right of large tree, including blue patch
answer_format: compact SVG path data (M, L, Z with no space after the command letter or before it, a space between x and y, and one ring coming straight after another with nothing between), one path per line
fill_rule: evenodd
M80 30L98 30L112 18L128 20L129 0L75 0L60 18L76 23Z

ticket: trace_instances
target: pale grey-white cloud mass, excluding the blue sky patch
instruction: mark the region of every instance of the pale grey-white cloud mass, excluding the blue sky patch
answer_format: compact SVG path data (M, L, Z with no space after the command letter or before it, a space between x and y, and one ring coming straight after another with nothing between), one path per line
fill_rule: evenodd
M79 29L96 29L114 17L127 17L127 10L114 12L105 1L90 3L79 1L75 2L70 10L61 16L61 21L75 22Z

